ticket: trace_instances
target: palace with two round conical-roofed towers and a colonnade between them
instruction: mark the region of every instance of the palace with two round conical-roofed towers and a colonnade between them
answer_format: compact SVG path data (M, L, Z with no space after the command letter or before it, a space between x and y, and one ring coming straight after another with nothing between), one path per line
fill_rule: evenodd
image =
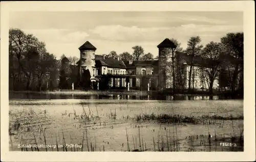
M172 88L173 85L172 69L166 65L170 62L167 56L173 48L176 48L176 45L166 38L157 47L159 49L158 60L122 61L119 57L97 55L97 48L87 41L78 48L80 50L80 60L77 62L78 74L81 76L85 70L89 70L92 83L100 83L103 78L107 77L107 86L110 88L125 89L129 85L130 88L148 89L149 86L150 90L164 91L166 88ZM191 88L207 89L205 79L200 77L200 69L208 68L205 60L197 57L191 63L191 58L182 52L176 52L174 60L175 71L179 71L180 74L176 76L177 88L188 88L189 69L193 66ZM63 61L68 62L67 58ZM216 80L214 88L217 87Z

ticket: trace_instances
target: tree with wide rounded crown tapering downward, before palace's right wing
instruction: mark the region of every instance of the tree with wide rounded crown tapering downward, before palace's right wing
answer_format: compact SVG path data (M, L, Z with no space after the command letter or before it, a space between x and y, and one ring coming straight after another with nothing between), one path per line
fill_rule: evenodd
M219 76L220 72L220 56L223 53L223 45L217 42L210 42L205 45L202 50L202 59L204 59L204 64L207 65L201 68L202 74L204 75L204 80L206 80L209 92L212 94L212 87L214 82Z

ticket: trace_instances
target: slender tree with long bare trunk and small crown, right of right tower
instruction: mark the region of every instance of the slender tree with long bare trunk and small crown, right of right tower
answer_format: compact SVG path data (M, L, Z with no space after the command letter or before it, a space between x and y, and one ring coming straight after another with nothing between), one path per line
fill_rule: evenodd
M195 56L200 55L200 52L203 48L203 46L200 45L200 43L201 43L201 38L199 36L191 37L187 42L186 52L191 58L189 76L188 76L188 89L189 90L191 89L191 74L192 74L192 70L193 70L192 65L194 62L194 58L195 58ZM194 85L194 83L193 83L193 85Z

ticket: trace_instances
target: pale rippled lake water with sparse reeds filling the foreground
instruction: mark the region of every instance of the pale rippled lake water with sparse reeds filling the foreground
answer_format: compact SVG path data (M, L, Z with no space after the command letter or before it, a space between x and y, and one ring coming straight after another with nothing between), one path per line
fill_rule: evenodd
M239 119L243 117L243 100L208 100L203 96L193 96L194 100L186 99L188 96L175 100L172 96L165 96L166 100L120 95L49 96L12 96L9 101L10 150L20 151L19 144L33 145L35 141L42 145L66 144L70 146L67 151L243 150L238 138L232 141L236 147L220 144L230 143L232 136L243 134L243 119ZM84 119L85 114L90 120ZM139 115L151 114L187 116L199 118L200 122L137 120ZM202 118L205 115L223 119ZM230 115L238 119L225 120ZM17 121L19 129L15 129ZM32 150L35 148L27 148L27 151ZM46 151L46 148L39 148L39 151ZM48 148L47 151L66 151L66 148Z

